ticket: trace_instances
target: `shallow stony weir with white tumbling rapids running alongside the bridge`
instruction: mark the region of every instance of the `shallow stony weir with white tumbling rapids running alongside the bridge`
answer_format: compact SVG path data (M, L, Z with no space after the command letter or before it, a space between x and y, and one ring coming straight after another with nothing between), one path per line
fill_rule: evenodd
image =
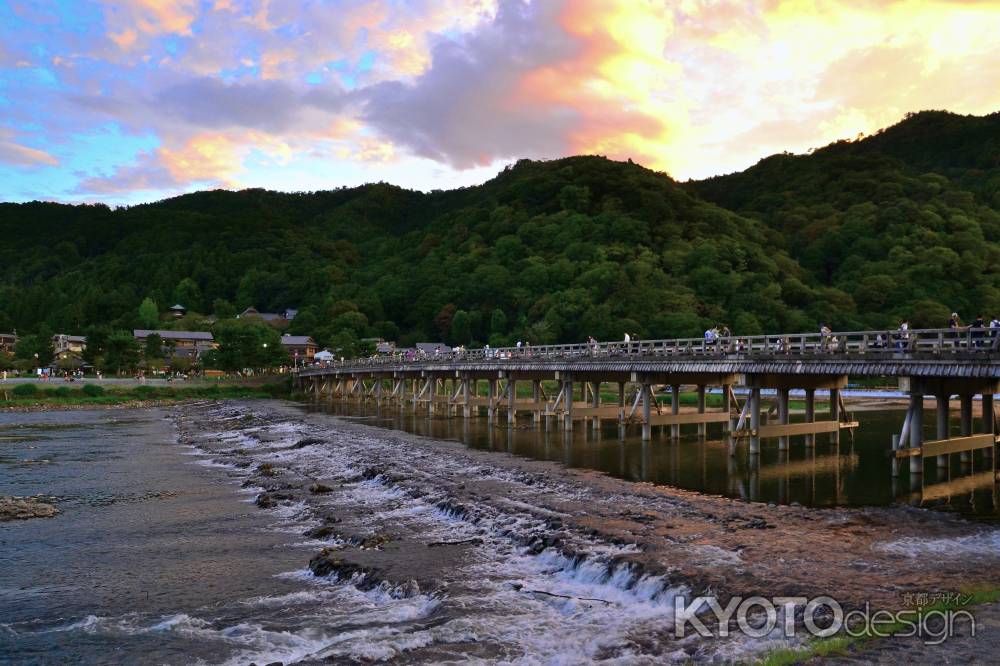
M787 642L679 640L673 598L711 594L725 607L734 597L830 595L845 610L898 610L907 595L989 586L1000 564L997 530L908 506L748 503L289 404L176 413L183 443L246 470L261 510L307 528L316 578L437 597L468 616L476 649L496 658L742 660ZM484 603L502 605L502 616L478 617ZM440 658L449 626L393 654ZM449 645L451 657L474 654L462 652L467 642Z

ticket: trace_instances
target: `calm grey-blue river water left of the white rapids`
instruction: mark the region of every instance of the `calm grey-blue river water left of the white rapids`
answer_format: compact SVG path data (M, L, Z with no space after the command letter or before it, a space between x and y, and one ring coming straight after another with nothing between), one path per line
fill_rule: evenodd
M192 643L222 660L168 629L298 589L275 576L302 567L292 536L197 460L158 410L0 414L0 494L62 512L0 523L0 662L191 663Z

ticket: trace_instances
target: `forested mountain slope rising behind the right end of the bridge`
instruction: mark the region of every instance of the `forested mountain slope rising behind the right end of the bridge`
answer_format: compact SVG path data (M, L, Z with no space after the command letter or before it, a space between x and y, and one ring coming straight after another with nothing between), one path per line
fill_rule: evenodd
M830 311L841 326L1000 313L1000 113L913 114L686 188L763 222L813 285L850 296Z

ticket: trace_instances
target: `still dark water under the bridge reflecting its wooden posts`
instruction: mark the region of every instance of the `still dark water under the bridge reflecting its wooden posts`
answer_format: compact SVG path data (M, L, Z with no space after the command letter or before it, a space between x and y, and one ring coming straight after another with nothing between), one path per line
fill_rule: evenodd
M890 441L904 416L898 410L857 413L861 425L855 432L816 437L812 446L804 437L792 437L788 449L779 450L777 440L765 440L760 454L751 455L745 442L731 440L718 424L709 425L704 437L695 434L694 426L690 432L684 428L676 439L668 428L654 428L652 439L643 442L638 426L622 429L614 421L599 427L581 421L566 430L555 419L535 424L528 416L508 428L506 420L491 426L485 417L428 417L409 407L372 403L312 408L477 449L748 501L815 507L906 502L1000 520L993 460L983 451L969 461L951 456L948 467L929 459L922 475L908 474L904 466L893 478Z

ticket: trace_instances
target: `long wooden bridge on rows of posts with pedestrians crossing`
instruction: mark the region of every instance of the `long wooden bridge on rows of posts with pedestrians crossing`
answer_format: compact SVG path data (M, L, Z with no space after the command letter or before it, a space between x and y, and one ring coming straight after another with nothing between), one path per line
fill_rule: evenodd
M717 423L731 441L749 440L750 453L757 454L766 439L777 439L781 450L796 436L806 446L820 434L836 440L842 429L857 426L841 395L849 379L892 378L909 396L900 433L893 436L893 473L908 459L910 473L922 474L925 457L936 457L945 467L951 454L963 462L979 450L992 454L997 441L993 396L1000 381L996 333L985 328L848 331L458 348L342 359L304 368L295 381L317 401L412 404L430 415L465 418L485 410L491 422L505 414L509 426L520 414L530 414L536 427L552 419L567 432L575 422L598 427L611 419L622 433L628 424L641 424L644 440L656 426L669 427L678 437L682 426L704 435L708 424ZM527 397L518 393L524 384L531 387L524 392ZM614 392L604 393L605 385ZM681 412L682 386L694 387L696 411ZM793 390L805 396L799 422L792 422L789 409ZM762 391L773 393L770 405L762 402ZM817 391L829 395L825 418L818 418L823 414L817 414ZM665 392L671 397L669 413L663 413L658 398ZM721 405L711 410L710 393L721 395ZM606 400L607 395L614 399ZM950 401L956 395L959 436L952 437ZM937 416L936 437L929 440L924 439L927 396L936 400ZM977 397L978 424L973 417Z

